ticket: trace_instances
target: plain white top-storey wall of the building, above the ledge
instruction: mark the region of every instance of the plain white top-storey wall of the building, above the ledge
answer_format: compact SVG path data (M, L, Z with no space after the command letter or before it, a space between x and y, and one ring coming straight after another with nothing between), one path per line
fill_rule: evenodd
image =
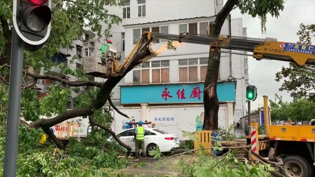
M124 19L123 25L214 16L215 1L222 0L146 0L146 17L138 17L137 0L130 0L130 19ZM106 7L123 18L122 8Z

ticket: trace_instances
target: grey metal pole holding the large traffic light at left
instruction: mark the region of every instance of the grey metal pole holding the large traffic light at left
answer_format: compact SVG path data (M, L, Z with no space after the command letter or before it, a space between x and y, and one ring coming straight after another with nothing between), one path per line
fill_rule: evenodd
M13 28L3 177L16 176L24 45Z

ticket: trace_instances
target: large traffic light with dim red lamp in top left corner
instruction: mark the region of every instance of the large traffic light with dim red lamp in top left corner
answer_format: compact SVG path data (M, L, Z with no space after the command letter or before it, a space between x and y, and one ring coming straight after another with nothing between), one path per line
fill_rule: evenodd
M50 34L51 0L13 0L13 25L25 48L35 51Z

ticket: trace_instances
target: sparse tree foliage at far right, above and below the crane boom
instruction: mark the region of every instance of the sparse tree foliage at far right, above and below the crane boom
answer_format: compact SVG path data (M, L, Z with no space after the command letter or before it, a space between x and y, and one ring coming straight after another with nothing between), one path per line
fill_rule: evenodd
M315 36L315 24L300 24L300 30L296 34L299 36L298 43L312 44ZM283 82L279 88L280 91L286 90L292 97L305 96L309 91L315 89L315 72L290 63L288 67L282 67L281 71L276 73L276 81ZM311 99L315 100L314 97Z

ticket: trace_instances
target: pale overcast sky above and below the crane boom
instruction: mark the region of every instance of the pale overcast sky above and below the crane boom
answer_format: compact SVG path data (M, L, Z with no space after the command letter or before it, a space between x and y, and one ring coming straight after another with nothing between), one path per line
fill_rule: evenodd
M250 15L242 15L239 9L232 10L233 18L242 18L243 27L247 27L247 36L255 38L272 37L278 41L297 42L296 32L301 23L305 25L315 24L315 0L285 0L284 10L280 12L278 19L267 17L267 31L262 34L260 31L260 20L252 18ZM275 81L275 73L282 66L287 66L285 61L261 60L256 61L252 57L248 59L249 83L258 88L258 97L252 102L252 110L263 106L262 95L267 95L269 99L275 100L275 93L282 95L285 101L292 101L289 93L279 91L280 82ZM278 100L277 100L278 102Z

